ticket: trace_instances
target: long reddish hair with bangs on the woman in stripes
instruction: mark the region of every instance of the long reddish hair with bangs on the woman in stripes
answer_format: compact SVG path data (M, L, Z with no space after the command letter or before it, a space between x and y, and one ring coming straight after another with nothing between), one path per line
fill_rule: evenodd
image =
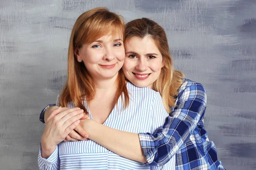
M82 100L86 97L90 102L94 98L95 84L84 63L77 61L74 51L81 48L83 44L92 43L106 34L119 34L124 38L125 23L122 16L110 12L107 8L93 8L81 14L76 20L70 35L67 82L60 95L61 106L67 107L67 103L72 100L76 107L88 113ZM122 69L118 72L116 83L118 91L115 103L117 105L119 96L122 96L122 102L126 108L129 104L129 96Z

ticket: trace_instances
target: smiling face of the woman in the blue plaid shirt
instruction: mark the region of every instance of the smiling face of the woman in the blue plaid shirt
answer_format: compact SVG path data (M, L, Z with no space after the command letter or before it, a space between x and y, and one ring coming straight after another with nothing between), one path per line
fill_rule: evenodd
M125 77L137 87L152 88L163 67L163 57L154 43L146 36L131 37L125 42Z

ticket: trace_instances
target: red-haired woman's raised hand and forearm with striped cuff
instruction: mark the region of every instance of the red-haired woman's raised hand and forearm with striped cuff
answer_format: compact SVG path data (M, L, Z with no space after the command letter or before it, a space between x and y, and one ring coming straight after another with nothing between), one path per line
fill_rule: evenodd
M51 168L58 170L58 144L77 126L83 114L80 108L71 108L69 111L61 111L58 107L50 115L44 133L41 138L41 147L38 154L38 166L40 169ZM58 114L55 114L58 113Z

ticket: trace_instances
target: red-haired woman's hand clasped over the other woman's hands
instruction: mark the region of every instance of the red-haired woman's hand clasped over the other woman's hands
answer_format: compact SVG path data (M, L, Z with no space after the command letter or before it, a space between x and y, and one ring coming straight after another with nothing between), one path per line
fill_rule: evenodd
M71 108L62 112L60 111L61 107L55 109L47 119L48 123L45 126L41 139L41 153L46 153L45 155L50 155L49 152L54 151L55 147L62 142L77 125L79 125L79 119L84 116L84 111L80 108Z

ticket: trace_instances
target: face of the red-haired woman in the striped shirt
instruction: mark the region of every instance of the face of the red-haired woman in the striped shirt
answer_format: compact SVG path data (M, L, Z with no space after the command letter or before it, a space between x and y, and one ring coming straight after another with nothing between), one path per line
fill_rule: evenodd
M123 37L104 35L93 43L84 44L76 54L84 62L87 71L95 80L117 76L125 59Z

